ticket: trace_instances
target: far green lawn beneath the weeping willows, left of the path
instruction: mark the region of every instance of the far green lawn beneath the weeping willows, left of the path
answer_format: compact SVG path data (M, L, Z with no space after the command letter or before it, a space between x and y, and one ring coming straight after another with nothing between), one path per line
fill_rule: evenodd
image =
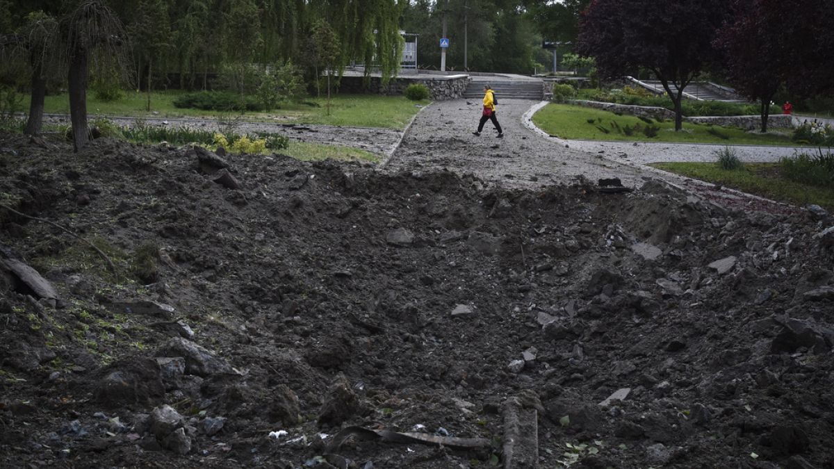
M151 93L151 110L146 111L147 94L127 92L122 99L113 102L100 101L89 93L87 112L91 115L130 116L145 118L200 117L214 118L217 111L175 108L173 100L183 91ZM415 103L404 96L380 96L374 94L339 94L331 101L330 115L327 115L327 98L307 98L305 103L291 103L269 113L244 113L244 118L253 121L297 124L327 124L349 127L380 127L404 129L414 114L428 101ZM314 103L310 105L308 103ZM28 109L28 101L24 103ZM69 113L67 94L47 96L44 103L47 113ZM158 112L154 114L153 111Z

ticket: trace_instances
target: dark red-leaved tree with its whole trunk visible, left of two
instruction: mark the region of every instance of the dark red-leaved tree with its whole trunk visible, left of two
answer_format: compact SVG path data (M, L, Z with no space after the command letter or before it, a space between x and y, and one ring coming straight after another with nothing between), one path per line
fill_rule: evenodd
M655 73L681 130L684 88L714 60L726 13L723 0L594 0L580 21L579 51L596 58L601 76L640 67Z

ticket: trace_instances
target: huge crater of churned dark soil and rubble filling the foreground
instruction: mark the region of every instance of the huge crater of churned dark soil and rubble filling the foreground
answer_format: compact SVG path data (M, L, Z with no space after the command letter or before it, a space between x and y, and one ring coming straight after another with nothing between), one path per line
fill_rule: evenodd
M827 214L2 137L0 466L834 466Z

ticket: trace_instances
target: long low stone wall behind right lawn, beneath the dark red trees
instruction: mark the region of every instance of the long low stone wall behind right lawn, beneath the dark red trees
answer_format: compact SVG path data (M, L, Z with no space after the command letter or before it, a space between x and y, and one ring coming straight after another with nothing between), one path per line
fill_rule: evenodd
M630 104L617 103L602 103L600 101L586 101L584 99L571 99L570 104L585 106L587 108L602 109L612 113L629 114L636 117L645 117L651 119L672 120L675 119L675 113L666 108L656 108L653 106L633 106ZM735 127L737 129L758 130L761 129L761 116L696 116L686 117L684 121L692 124L707 124L718 125L721 127ZM789 115L776 114L768 116L768 129L792 129L793 119Z

